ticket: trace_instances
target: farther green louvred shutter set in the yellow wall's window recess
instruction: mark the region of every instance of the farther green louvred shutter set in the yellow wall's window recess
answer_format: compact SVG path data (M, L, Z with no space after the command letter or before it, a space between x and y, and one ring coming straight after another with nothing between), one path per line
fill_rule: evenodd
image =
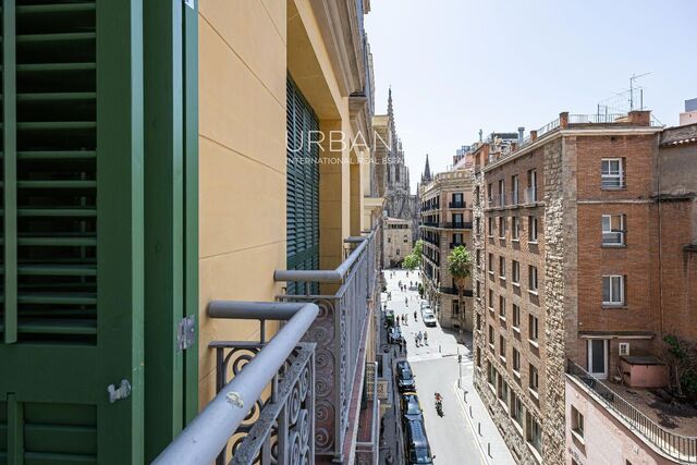
M289 76L288 98L288 178L286 254L289 270L319 269L319 121L301 90ZM314 135L313 135L314 134ZM289 282L288 293L302 293L298 283ZM319 293L314 283L308 290Z

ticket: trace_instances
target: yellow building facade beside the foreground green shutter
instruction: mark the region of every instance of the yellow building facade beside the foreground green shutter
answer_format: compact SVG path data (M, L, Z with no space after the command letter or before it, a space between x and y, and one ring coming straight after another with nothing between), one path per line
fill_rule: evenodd
M319 132L319 269L374 229L372 75L362 28L369 2L207 0L199 4L199 405L216 395L211 341L258 340L256 321L208 317L212 301L273 302L286 283L286 93ZM360 24L359 24L360 23ZM367 59L366 59L367 58ZM366 91L368 89L368 91ZM322 284L322 293L335 284ZM278 323L267 322L272 335ZM368 334L375 333L370 322ZM375 341L366 341L375 360Z

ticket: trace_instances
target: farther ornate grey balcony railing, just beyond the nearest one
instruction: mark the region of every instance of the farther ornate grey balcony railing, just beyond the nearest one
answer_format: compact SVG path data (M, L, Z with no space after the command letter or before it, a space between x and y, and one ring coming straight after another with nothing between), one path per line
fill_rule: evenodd
M347 435L353 431L353 421L358 419L360 403L360 392L353 388L363 386L366 338L372 310L370 301L376 298L377 236L376 229L367 236L346 240L357 246L334 270L279 270L274 273L276 281L295 282L296 289L310 289L313 283L339 287L322 291L321 295L278 297L281 302L315 303L320 308L319 317L303 338L305 342L317 344L316 457L341 462L352 448Z

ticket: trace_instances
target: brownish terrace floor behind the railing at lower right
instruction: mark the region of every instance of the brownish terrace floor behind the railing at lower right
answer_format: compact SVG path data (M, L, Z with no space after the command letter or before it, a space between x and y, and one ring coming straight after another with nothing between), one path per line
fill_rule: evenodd
M677 402L670 404L648 389L628 388L604 381L606 386L644 415L676 435L697 436L697 408Z

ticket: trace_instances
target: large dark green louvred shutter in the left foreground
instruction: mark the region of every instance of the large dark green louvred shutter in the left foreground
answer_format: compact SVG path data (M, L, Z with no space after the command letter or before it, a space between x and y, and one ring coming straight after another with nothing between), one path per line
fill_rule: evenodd
M142 4L2 17L0 463L139 463Z

